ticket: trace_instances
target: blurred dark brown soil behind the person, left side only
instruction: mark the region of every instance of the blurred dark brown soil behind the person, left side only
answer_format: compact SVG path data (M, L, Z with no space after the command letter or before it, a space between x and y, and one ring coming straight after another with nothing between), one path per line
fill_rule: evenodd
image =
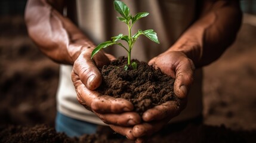
M54 126L58 64L27 36L21 15L0 17L0 125Z

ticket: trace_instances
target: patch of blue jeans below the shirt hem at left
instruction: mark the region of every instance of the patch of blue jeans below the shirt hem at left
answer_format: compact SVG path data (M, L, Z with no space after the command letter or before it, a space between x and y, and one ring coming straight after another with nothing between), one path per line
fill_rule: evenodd
M67 136L81 136L84 133L92 134L96 133L97 126L93 123L84 122L82 120L76 120L71 117L67 117L60 112L57 112L55 119L55 129L57 132L64 132Z

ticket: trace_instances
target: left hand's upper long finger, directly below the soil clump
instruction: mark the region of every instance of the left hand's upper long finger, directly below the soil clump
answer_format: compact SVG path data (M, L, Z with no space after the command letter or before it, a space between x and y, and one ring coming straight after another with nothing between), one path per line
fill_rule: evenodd
M101 95L94 98L91 108L97 113L121 113L132 111L134 106L128 100L123 98L113 98L107 95Z

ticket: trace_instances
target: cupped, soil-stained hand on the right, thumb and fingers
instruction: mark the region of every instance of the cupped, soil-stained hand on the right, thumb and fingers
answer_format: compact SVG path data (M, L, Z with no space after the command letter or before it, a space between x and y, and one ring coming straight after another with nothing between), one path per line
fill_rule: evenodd
M144 122L132 128L132 136L137 138L137 142L143 142L147 136L162 129L186 107L187 92L192 85L195 70L192 60L178 51L166 51L150 60L149 64L175 78L174 93L180 99L180 103L168 101L145 111L142 117Z

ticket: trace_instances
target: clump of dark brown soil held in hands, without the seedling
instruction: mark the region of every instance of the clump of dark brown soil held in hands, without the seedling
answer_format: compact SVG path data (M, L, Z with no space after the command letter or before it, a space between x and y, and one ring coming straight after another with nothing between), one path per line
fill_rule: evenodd
M125 57L103 66L100 69L103 82L97 91L103 95L131 101L135 111L140 115L166 101L174 100L179 104L173 89L174 78L162 73L160 69L155 70L147 63L132 60L134 61L138 64L137 69L129 67L127 71L124 70L127 65Z

